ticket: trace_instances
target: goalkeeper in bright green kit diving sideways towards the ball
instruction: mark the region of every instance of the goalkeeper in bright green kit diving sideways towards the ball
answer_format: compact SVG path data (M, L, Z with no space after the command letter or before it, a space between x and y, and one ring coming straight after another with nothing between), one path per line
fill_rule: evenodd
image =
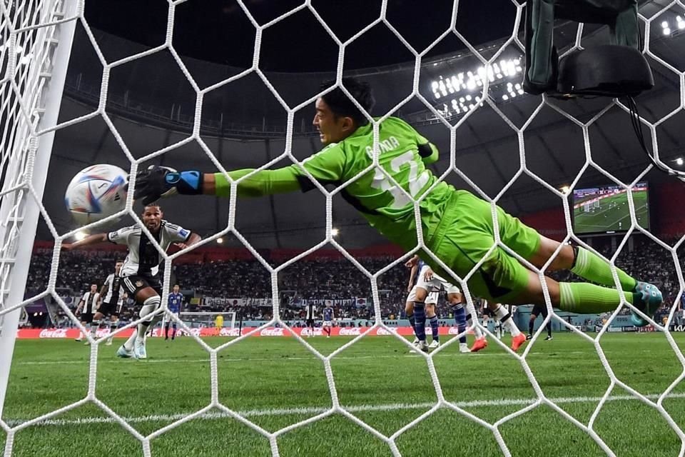
M333 86L322 85L322 91ZM367 112L374 104L368 84L343 78L342 84ZM373 128L357 106L340 89L333 89L317 99L313 124L320 133L323 149L303 161L303 167L323 186L340 184L354 178L372 163ZM425 245L452 271L465 277L486 256L494 244L491 206L468 191L456 190L441 182L426 168L437 160L437 147L401 119L389 117L379 126L379 164L392 176L400 190L378 169L371 169L342 190L342 196L352 204L369 224L392 243L410 251L417 245L416 221L412 199L420 201L421 224ZM231 179L240 179L253 169L228 172ZM300 166L259 171L238 184L238 198L283 194L316 189ZM173 171L153 167L138 172L135 198L143 204L173 194L216 195L228 197L230 182L221 173ZM559 246L497 208L499 236L512 251L534 266L542 267ZM431 268L449 277L430 256L421 256ZM547 271L569 269L592 283L559 283L545 277L554 308L573 313L602 313L617 308L622 293L614 288L609 263L582 247L565 245ZM655 286L637 281L617 268L619 283L626 301L646 315L659 307L661 292ZM545 305L542 283L537 273L530 271L517 258L497 247L487 255L480 268L467 282L473 296L489 303ZM601 284L601 285L597 285ZM423 303L416 303L416 326L420 322ZM504 307L502 307L504 308ZM418 313L417 313L418 311ZM514 326L510 316L499 316ZM642 326L644 318L634 313L633 322ZM513 334L513 333L512 333ZM514 338L517 349L525 336Z

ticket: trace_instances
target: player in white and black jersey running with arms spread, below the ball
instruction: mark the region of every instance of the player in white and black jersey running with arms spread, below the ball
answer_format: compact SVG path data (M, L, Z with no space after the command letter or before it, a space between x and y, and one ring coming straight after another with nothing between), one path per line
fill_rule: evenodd
M149 204L143 209L143 224L163 251L166 251L172 243L181 248L186 248L202 239L197 233L170 224L164 221L162 217L162 209L158 204ZM163 258L161 252L157 250L148 236L143 234L140 226L124 227L110 233L86 236L81 241L63 245L63 247L71 250L104 241L111 241L128 247L128 256L126 256L121 267L122 283L129 296L141 305L138 316L148 316L157 311L161 306L162 286L158 273L159 264ZM153 318L148 318L148 320L139 323L126 343L118 348L116 355L123 358L147 358L145 333L152 321Z

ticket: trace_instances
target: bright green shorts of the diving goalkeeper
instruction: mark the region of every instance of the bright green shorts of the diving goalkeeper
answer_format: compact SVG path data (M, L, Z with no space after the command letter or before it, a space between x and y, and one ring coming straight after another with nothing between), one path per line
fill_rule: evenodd
M499 206L496 212L502 243L522 258L532 258L540 246L539 233ZM455 191L428 247L460 278L487 256L468 278L469 290L472 296L507 303L526 288L529 269L501 246L488 253L493 245L492 206L468 191Z

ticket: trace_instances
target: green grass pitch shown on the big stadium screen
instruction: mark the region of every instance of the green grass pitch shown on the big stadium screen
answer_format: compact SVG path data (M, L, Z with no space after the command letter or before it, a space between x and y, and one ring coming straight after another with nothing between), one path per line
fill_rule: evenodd
M649 230L647 193L635 192L633 201L638 224ZM583 211L582 206L580 206L574 209L573 218L576 233L626 231L630 228L628 196L627 194L617 194L602 199L600 206L590 212Z

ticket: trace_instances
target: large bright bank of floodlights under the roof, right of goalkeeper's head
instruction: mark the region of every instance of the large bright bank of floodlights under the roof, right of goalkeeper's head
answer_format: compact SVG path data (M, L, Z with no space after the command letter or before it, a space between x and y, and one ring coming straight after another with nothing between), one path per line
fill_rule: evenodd
M522 71L521 56L516 59L502 59L487 68L480 66L475 71L460 71L452 76L438 76L438 79L431 81L430 88L435 99L441 99L462 91L478 90L486 79L493 83L504 78L514 78Z

